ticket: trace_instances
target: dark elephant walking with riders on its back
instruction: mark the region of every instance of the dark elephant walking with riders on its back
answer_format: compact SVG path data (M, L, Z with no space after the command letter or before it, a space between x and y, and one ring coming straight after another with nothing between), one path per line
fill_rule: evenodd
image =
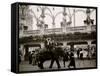
M56 61L58 68L61 68L59 58L63 58L63 64L65 67L65 61L68 60L68 54L65 53L62 47L56 47L49 51L45 48L39 49L39 53L36 54L36 62L40 69L44 69L43 63L47 60L51 60L49 68L52 68L54 61Z

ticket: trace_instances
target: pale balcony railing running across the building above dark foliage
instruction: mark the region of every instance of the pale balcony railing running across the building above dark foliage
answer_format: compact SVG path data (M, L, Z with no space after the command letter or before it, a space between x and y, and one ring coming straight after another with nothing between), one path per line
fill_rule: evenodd
M65 31L64 31L65 29ZM96 26L77 26L77 27L67 27L67 28L54 28L54 29L44 29L43 30L28 30L23 31L23 36L29 36L29 35L43 35L43 34L62 34L62 33L74 33L74 32L91 32L96 31Z

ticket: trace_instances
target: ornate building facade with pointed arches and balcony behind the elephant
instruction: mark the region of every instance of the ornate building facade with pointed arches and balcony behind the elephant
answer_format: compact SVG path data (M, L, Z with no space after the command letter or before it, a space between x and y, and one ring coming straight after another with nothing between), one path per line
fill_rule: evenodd
M40 11L40 10L41 11ZM75 48L75 45L87 45L88 47L96 47L96 18L92 19L92 12L96 12L94 9L69 9L62 7L62 12L57 12L56 15L51 14L52 11L56 10L46 6L37 7L37 12L40 15L36 15L34 9L30 9L30 6L19 6L19 43L20 50L23 53L23 60L27 60L27 55L29 51L35 50L38 47L44 48L44 40L46 38L54 39L59 42L62 47L69 46L70 48ZM50 13L46 13L48 10ZM72 13L69 13L71 12ZM75 19L77 12L85 13L85 20L83 20L84 26L75 26ZM53 28L48 28L49 24L45 23L46 14L51 16ZM60 22L60 28L55 28L56 17L62 14L62 21ZM96 15L96 13L94 14ZM67 19L68 16L68 19ZM73 17L72 17L73 16ZM33 18L36 20L37 29L33 30L34 26ZM71 26L71 24L74 26Z

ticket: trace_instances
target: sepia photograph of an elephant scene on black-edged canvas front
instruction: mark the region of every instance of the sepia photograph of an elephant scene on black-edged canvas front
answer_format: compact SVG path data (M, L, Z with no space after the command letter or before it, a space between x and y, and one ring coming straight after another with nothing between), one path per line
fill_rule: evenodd
M18 5L19 72L97 68L97 8Z

